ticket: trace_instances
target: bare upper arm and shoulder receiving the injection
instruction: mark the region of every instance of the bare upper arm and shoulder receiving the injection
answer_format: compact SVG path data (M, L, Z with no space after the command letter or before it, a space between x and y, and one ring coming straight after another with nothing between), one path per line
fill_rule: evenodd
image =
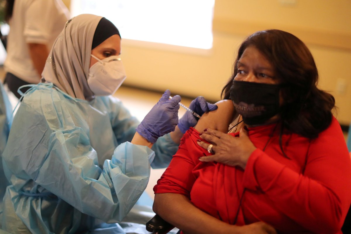
M201 116L195 129L202 132L205 128L227 132L228 126L233 120L235 109L231 100L221 100L216 103L216 111L206 112Z

